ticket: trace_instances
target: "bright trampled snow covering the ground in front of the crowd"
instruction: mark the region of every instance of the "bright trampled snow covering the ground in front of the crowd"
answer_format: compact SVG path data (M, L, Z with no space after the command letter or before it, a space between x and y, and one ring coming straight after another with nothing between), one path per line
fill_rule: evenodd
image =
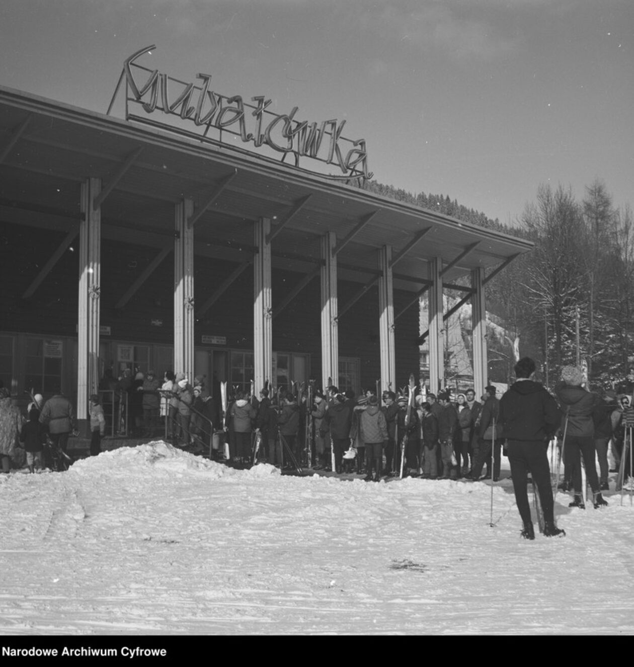
M613 486L613 485L612 485ZM634 507L233 470L163 442L0 478L0 633L634 634Z

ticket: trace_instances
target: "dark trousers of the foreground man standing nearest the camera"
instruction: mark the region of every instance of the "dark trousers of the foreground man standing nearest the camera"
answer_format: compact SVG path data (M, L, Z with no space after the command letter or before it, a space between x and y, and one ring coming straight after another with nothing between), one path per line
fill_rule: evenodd
M517 502L519 516L521 516L522 522L525 524L531 523L531 506L529 505L526 488L528 472L531 473L533 482L539 492L544 521L552 523L555 520L551 472L546 451L547 444L541 440L507 441L507 456L509 457L509 464L511 464L515 502Z

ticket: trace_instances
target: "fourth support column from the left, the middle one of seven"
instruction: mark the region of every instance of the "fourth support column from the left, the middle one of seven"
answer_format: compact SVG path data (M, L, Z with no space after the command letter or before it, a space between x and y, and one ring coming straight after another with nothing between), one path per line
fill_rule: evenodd
M321 386L328 378L339 384L339 335L337 331L337 235L329 231L321 237Z

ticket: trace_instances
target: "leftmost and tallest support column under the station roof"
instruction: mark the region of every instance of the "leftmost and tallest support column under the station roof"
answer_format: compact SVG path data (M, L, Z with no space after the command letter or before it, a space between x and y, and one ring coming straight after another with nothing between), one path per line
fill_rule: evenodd
M77 422L84 437L90 434L91 394L99 387L99 301L101 292L101 208L93 206L101 179L81 184L79 224L79 308L77 313Z

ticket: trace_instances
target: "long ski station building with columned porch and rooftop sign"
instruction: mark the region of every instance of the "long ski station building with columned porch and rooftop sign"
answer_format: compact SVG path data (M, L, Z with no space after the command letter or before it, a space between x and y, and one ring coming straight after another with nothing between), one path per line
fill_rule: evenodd
M365 141L343 123L271 113L204 75L175 81L139 64L148 51L125 61L105 114L0 87L0 378L13 396L61 384L81 418L105 370L125 367L212 388L396 389L418 376L425 292L434 390L443 288L473 304L480 395L485 281L531 244L361 189Z

